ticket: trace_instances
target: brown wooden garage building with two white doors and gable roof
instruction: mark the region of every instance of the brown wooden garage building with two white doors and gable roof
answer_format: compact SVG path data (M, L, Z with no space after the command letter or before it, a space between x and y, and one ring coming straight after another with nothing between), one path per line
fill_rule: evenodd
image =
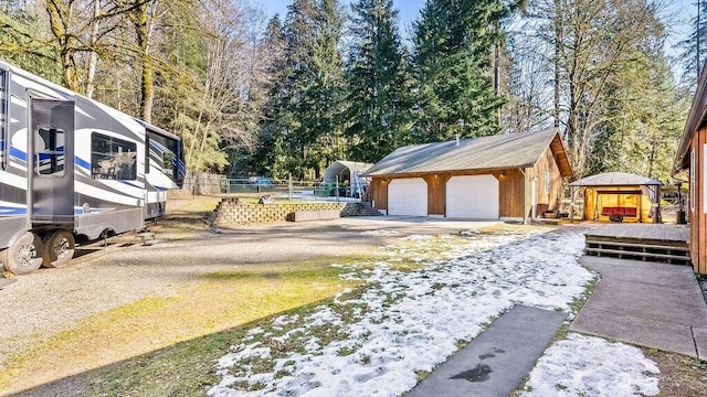
M572 170L552 128L407 146L365 174L389 215L527 221L559 210Z

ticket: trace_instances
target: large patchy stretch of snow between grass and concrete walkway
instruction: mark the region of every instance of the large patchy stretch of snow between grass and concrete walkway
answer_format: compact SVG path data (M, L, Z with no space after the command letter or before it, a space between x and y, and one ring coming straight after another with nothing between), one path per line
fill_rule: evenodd
M569 311L593 278L578 264L581 232L405 237L388 259L346 267L344 278L366 282L362 292L251 330L219 360L209 395L399 396L514 304ZM536 378L549 376L538 369Z

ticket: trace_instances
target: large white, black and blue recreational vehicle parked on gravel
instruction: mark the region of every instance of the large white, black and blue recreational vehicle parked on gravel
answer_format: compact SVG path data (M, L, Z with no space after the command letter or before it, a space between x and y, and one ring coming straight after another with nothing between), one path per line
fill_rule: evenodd
M139 230L186 173L179 137L0 62L0 264L62 267Z

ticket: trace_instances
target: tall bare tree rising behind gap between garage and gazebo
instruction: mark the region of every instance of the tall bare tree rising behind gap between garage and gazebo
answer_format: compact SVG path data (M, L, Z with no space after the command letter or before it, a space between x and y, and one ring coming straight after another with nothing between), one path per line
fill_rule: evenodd
M592 168L590 154L601 126L609 122L611 88L620 72L651 41L662 40L661 0L540 0L534 4L534 31L553 51L555 122L564 126L576 176Z

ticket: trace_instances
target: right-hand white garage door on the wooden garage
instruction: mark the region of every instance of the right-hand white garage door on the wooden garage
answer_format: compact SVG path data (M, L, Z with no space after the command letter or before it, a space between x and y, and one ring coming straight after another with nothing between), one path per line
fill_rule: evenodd
M452 176L446 183L446 216L498 219L498 180L494 175Z

